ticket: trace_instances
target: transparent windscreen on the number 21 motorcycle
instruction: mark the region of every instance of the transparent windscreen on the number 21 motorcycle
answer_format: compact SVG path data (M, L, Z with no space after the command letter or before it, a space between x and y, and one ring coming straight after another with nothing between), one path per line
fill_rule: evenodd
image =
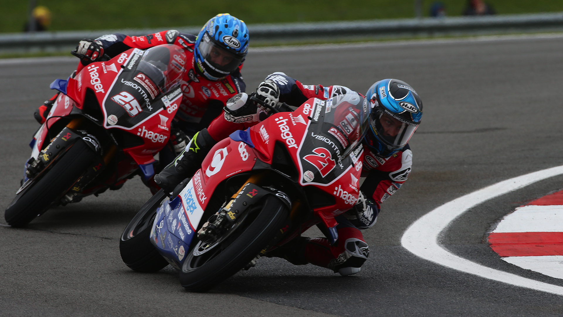
M325 104L325 133L342 145L340 159L347 157L364 137L368 127L368 104L358 94L338 95ZM328 136L327 135L327 136Z

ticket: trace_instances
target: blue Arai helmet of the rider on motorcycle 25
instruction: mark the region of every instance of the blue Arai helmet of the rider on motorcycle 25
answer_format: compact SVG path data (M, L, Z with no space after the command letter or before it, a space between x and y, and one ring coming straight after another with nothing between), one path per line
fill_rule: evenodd
M248 52L248 28L228 13L207 21L195 41L195 64L208 80L234 72Z

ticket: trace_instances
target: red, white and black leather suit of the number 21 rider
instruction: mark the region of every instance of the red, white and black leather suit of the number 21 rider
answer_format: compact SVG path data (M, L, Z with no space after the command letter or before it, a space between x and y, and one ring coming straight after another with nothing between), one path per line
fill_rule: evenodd
M326 100L340 94L355 93L343 86L302 85L301 82L286 76L284 73L273 73L266 79L274 81L280 88L279 101L294 107L300 106L310 98ZM218 116L207 128L209 135L216 141L229 137L236 130L245 130L258 123L258 121L236 123L227 118L229 118L228 114L227 116ZM363 142L369 142L369 139ZM401 185L409 176L412 165L412 152L408 144L391 157L381 157L370 151L365 144L364 152L362 177L365 177L365 180L360 190L376 205L376 208L374 208L376 210L374 210L373 221L360 226L360 228L373 226L381 203L401 188ZM316 237L306 243L294 245L296 250L294 250L293 256L286 256L285 258L294 264L309 262L330 268L334 272L338 272L343 267L361 266L365 258L354 256L354 254L363 254L367 257L369 249L361 231L358 229L358 225L352 223L345 215L337 216L336 220L339 223L337 226L338 243L336 245L330 246L329 240L325 237ZM350 244L349 242L354 243Z

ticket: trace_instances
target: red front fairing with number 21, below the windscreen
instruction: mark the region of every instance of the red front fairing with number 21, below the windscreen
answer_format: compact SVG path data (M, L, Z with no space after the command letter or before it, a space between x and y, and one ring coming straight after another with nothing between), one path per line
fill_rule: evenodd
M325 107L323 100L311 98L294 112L276 113L251 127L250 135L258 158L269 164L275 143L285 144L298 166L300 185L315 186L335 197L336 205L316 209L323 217L333 218L358 200L363 148L338 162L342 148L337 137L323 133ZM333 219L325 223L336 226Z

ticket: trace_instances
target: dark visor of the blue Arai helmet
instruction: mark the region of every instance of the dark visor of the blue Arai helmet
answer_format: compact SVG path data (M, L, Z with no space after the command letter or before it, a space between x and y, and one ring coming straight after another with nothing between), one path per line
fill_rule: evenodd
M198 48L204 63L213 71L225 76L234 72L243 60L242 56L223 49L213 41L201 41Z

